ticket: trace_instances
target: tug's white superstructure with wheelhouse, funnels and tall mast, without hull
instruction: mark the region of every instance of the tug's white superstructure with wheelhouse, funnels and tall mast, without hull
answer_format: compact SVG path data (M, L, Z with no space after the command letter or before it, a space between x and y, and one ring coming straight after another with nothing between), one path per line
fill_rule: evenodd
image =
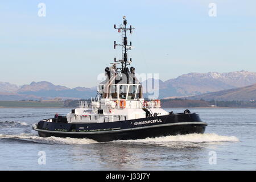
M122 35L121 44L114 41L116 46L122 47L122 59L114 59L111 67L105 68L106 80L98 85L98 94L90 103L80 102L80 107L67 114L69 123L103 123L146 118L156 115L167 115L167 111L160 108L160 100L145 101L142 95L142 85L135 77L135 68L127 67L128 45L126 32L133 32L134 28L126 28L127 20L123 16L123 24L114 28ZM121 64L121 67L117 67Z

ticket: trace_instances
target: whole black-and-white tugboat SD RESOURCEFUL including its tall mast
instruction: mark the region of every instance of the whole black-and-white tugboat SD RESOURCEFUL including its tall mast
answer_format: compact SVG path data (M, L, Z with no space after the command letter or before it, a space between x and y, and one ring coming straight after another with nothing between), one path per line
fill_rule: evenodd
M72 109L67 116L43 119L32 128L40 137L89 138L98 142L112 140L143 139L204 133L207 123L199 115L185 110L184 113L160 108L160 100L144 100L142 84L135 77L135 68L128 66L127 32L135 28L127 27L126 17L117 28L121 32L122 59L114 58L111 67L105 68L106 80L97 87L97 96L91 102L80 101L80 106ZM118 65L120 65L118 67Z

